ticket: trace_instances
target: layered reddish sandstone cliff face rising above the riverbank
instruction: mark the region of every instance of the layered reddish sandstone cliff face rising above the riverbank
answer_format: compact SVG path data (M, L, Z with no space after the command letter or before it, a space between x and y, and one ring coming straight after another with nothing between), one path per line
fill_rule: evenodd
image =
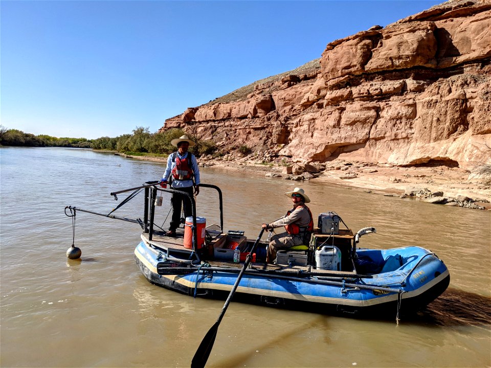
M473 167L491 154L491 2L450 1L327 44L316 74L257 84L247 98L189 108L219 147L296 162Z

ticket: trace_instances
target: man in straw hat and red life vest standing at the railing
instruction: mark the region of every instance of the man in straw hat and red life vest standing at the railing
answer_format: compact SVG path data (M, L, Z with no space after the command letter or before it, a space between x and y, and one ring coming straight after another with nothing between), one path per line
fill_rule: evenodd
M199 169L196 157L188 152L189 147L194 147L196 143L191 141L187 135L170 141L172 146L177 147L177 152L173 152L167 159L167 168L160 180L162 188L167 187L167 180L171 177L171 189L182 191L190 195L199 194ZM193 190L194 187L194 190ZM169 231L166 236L175 237L175 229L181 224L181 204L184 205L184 217L192 216L191 201L187 196L172 193L170 200L172 205L172 220L170 221Z

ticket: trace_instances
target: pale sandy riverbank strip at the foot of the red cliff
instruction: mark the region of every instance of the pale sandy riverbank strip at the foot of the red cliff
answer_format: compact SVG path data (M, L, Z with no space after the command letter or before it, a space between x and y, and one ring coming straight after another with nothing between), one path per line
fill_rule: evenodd
M166 163L167 158L151 156L121 156L140 160ZM301 175L285 174L284 166L274 164L257 164L248 157L235 160L202 158L198 160L199 166L215 166L227 170L244 172L252 175L276 176L283 179L299 179ZM318 173L313 173L308 180L332 183L355 188L363 188L373 193L404 195L417 190L423 190L426 195L418 195L421 200L429 199L431 194L435 197L463 199L467 197L471 202L491 210L491 187L486 180L460 168L445 166L435 167L391 167L388 165L374 165L359 162L346 162L336 160L327 165L321 165ZM310 175L306 175L310 176ZM300 179L301 180L301 179ZM301 186L301 181L299 181ZM438 193L441 192L441 193ZM438 195L440 194L440 195ZM460 197L459 197L460 196ZM452 200L442 201L452 205ZM458 205L453 204L453 205Z

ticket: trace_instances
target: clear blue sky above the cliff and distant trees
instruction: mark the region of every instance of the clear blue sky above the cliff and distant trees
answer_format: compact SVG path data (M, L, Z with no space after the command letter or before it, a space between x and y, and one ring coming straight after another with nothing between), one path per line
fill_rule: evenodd
M155 132L335 39L442 2L2 0L0 124L87 139Z

